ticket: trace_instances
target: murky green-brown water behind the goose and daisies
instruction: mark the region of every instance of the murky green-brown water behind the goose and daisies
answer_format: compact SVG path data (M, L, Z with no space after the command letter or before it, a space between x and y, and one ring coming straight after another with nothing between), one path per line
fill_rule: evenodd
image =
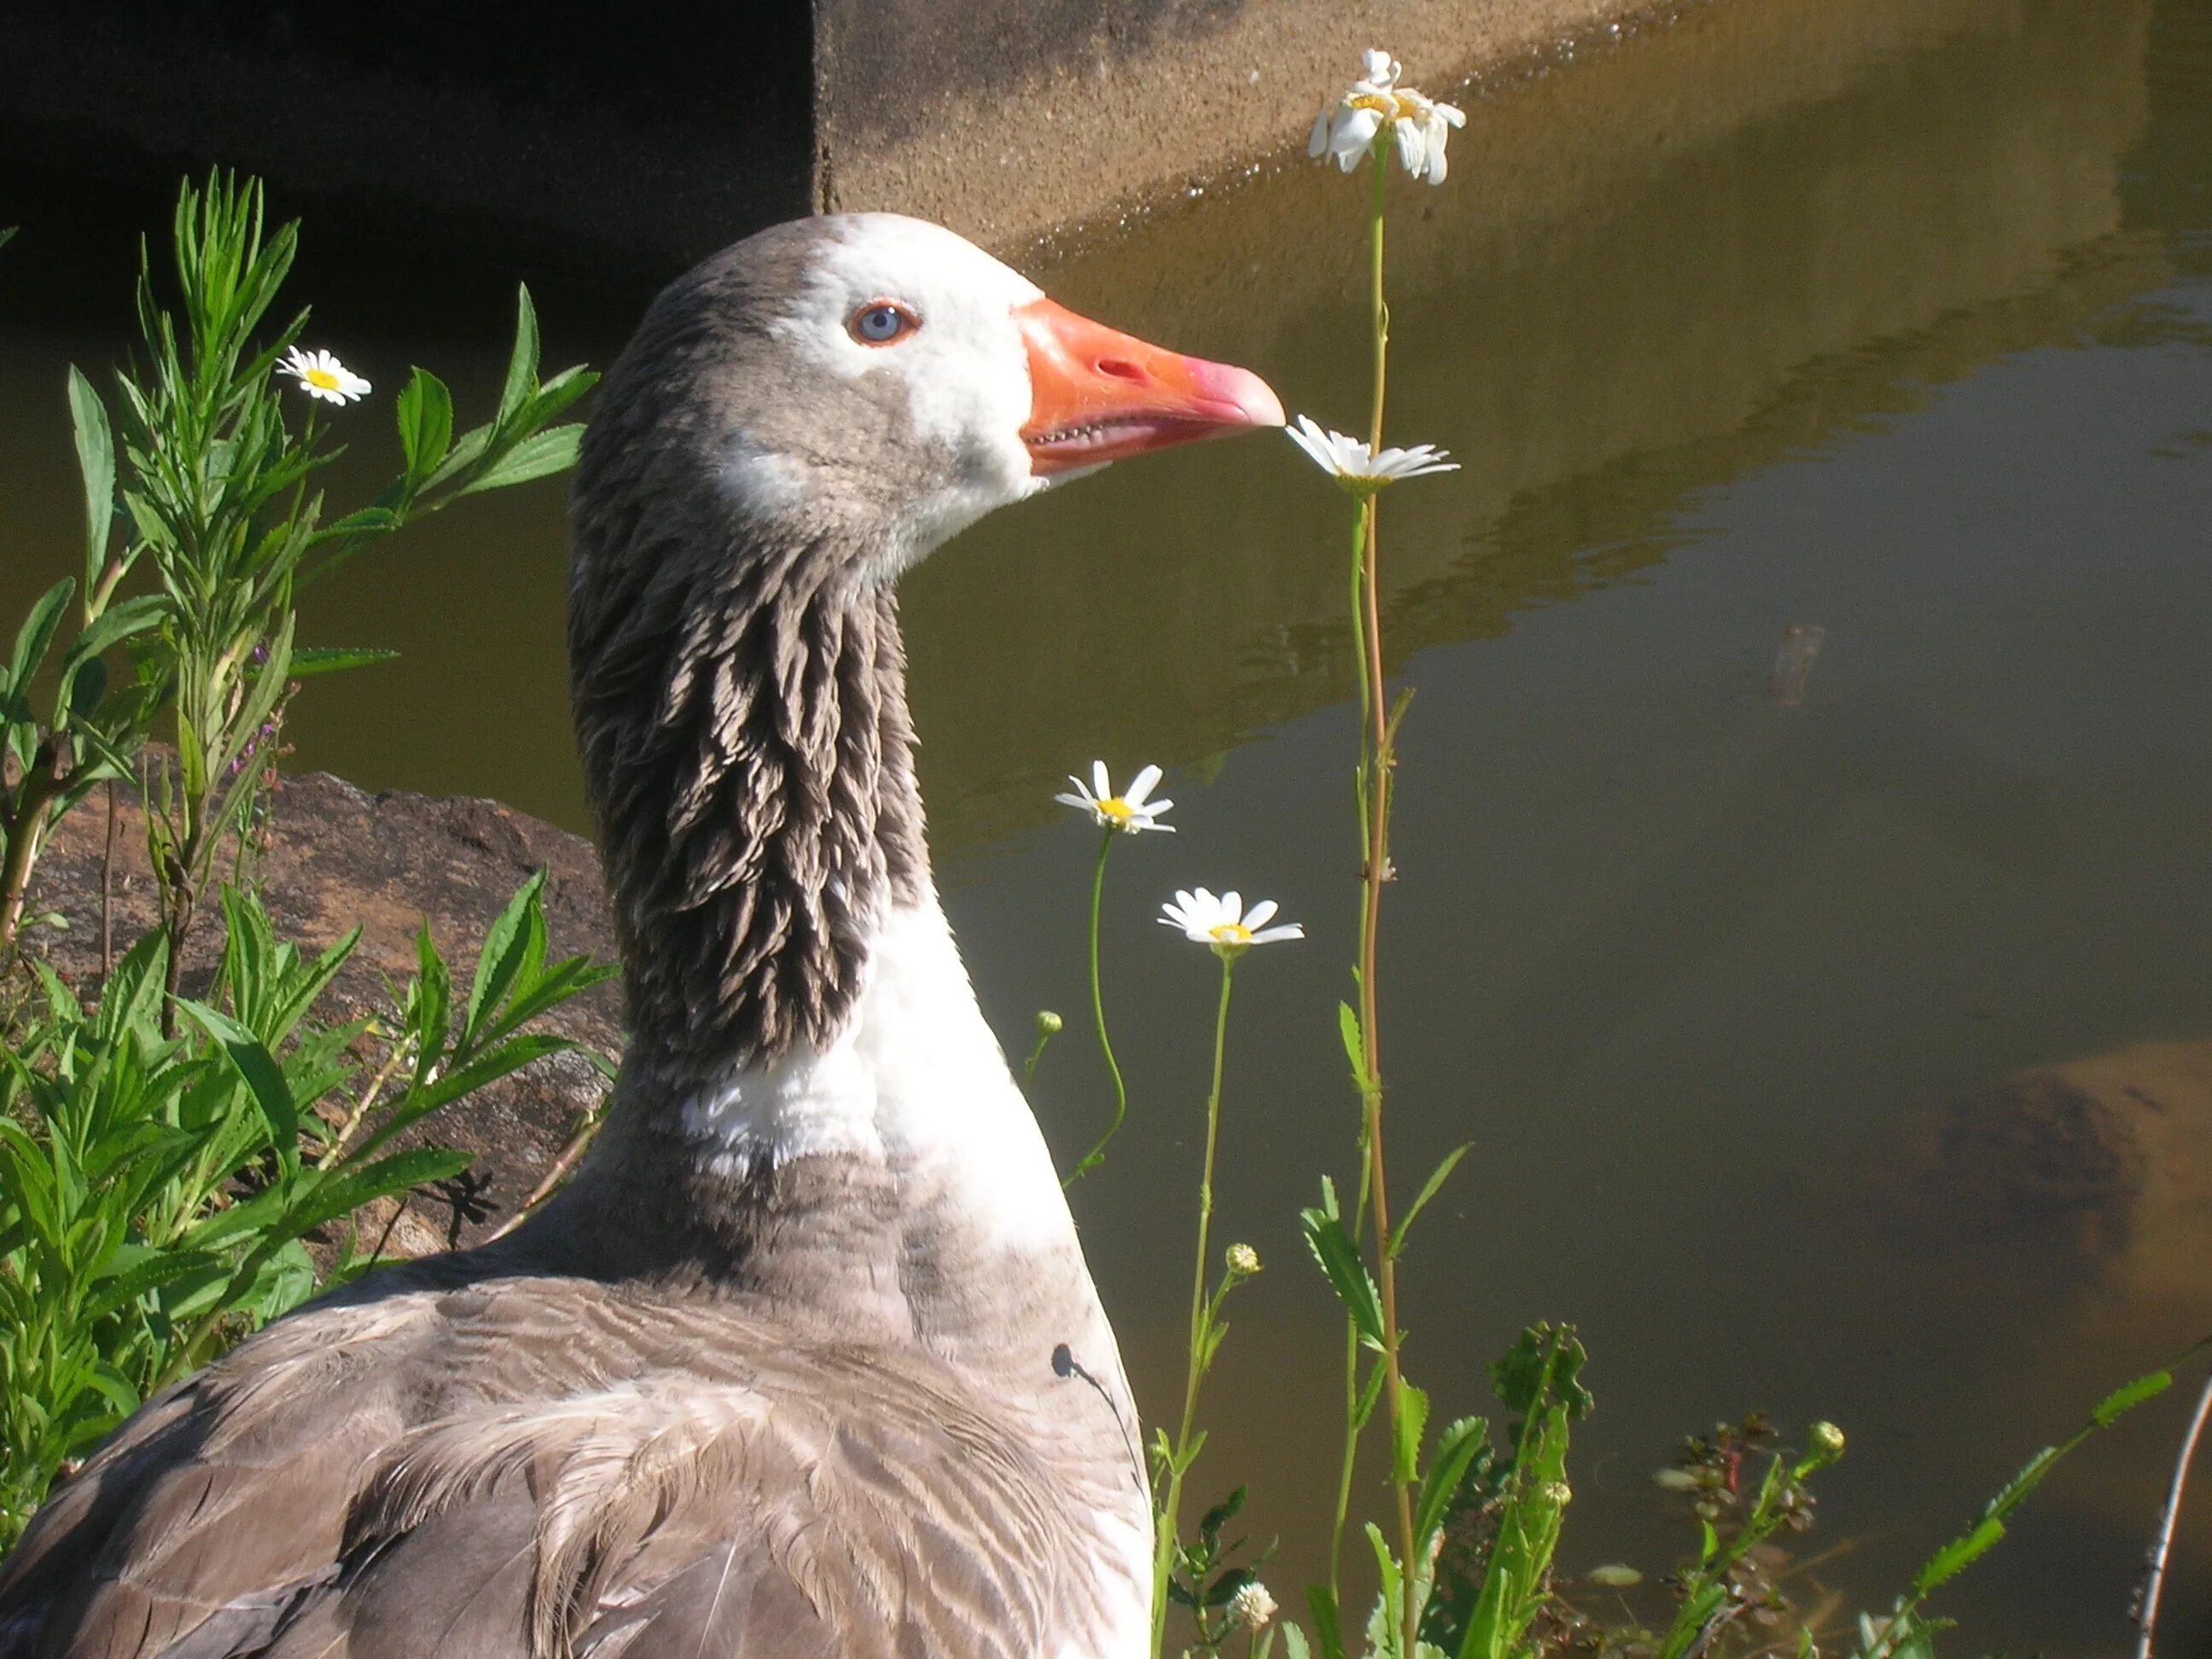
M1478 102L1451 186L1396 199L1394 436L1467 462L1385 524L1420 688L1385 951L1400 1179L1475 1141L1411 1256L1409 1363L1480 1407L1520 1323L1582 1323L1571 1568L1666 1566L1648 1469L1765 1407L1851 1431L1814 1535L1851 1548L1816 1577L1876 1601L2108 1380L2212 1329L2208 157L2205 0L1723 0ZM1354 195L1298 168L1037 274L1354 425ZM58 365L115 349L117 212L55 184L0 212L27 223L0 615L73 557ZM319 338L380 387L420 358L489 396L509 274L310 234ZM639 296L540 303L549 356L606 361ZM1113 867L1133 1124L1077 1192L1152 1411L1212 984L1152 905L1241 885L1310 927L1239 975L1217 1228L1270 1272L1201 1462L1254 1484L1279 1590L1334 1473L1294 1210L1352 1139L1340 518L1287 445L1206 447L980 526L907 608L938 863L1011 1044L1082 1002L1091 836L1057 776L1170 765L1181 834ZM312 633L407 661L310 697L301 763L580 823L562 562L555 489L365 560ZM1792 626L1823 630L1794 706ZM2079 1141L2008 1128L2064 1091L1931 1126L2084 1060L2099 1104L2053 1121L2141 1135L2117 1197ZM1071 1152L1099 1121L1073 1033L1037 1102ZM2179 1418L2048 1489L1949 1604L1964 1648L2121 1646ZM2174 1597L2161 1650L2201 1650L2212 1498Z

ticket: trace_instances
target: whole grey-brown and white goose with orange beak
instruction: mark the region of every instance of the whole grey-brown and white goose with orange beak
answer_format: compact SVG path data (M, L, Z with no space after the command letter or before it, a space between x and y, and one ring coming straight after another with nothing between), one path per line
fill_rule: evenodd
M0 1652L1146 1652L1137 1413L931 887L894 584L995 507L1281 422L896 215L661 292L571 504L633 1031L606 1128L507 1239L139 1409L0 1568Z

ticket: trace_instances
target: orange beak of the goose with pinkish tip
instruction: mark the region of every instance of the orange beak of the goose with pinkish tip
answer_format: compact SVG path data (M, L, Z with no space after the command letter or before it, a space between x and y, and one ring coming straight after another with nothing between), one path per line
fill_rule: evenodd
M1283 403L1250 369L1164 352L1048 299L1015 305L1013 321L1029 347L1022 442L1037 478L1283 425Z

